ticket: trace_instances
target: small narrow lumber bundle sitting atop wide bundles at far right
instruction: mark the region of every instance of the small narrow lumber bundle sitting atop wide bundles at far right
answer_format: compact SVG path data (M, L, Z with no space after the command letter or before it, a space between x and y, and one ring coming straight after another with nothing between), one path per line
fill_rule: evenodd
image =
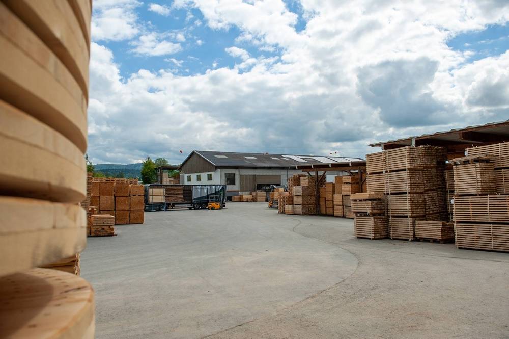
M492 155L470 155L451 160L454 191L458 195L495 193L495 168Z

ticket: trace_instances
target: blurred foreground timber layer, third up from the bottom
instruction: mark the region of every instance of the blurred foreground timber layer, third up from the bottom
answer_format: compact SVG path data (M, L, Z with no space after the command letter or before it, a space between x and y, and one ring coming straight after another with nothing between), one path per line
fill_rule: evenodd
M76 203L87 197L86 164L72 142L2 100L0 121L0 193Z

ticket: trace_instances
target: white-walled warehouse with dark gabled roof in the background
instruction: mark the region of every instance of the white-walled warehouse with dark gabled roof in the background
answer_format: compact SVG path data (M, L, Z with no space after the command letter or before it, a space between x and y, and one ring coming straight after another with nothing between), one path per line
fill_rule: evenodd
M179 170L181 184L227 185L227 195L233 196L239 192L256 191L264 186L287 185L288 177L302 174L297 165L359 160L363 161L360 158L332 156L192 151Z

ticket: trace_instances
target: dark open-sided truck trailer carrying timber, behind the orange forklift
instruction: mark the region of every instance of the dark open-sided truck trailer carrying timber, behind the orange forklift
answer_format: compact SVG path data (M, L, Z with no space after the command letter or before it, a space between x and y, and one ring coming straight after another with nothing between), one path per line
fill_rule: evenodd
M164 202L149 202L149 189L168 188L168 191L182 190L182 198L175 199L174 196L165 194ZM165 190L166 192L166 190ZM145 185L145 211L165 211L168 208L188 208L189 210L206 209L213 196L219 197L219 202L226 207L226 185Z

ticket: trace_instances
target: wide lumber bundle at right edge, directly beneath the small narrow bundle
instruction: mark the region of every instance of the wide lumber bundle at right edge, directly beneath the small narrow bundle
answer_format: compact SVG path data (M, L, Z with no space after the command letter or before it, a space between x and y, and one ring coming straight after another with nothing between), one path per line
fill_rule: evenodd
M456 196L454 220L506 223L509 221L509 195Z

